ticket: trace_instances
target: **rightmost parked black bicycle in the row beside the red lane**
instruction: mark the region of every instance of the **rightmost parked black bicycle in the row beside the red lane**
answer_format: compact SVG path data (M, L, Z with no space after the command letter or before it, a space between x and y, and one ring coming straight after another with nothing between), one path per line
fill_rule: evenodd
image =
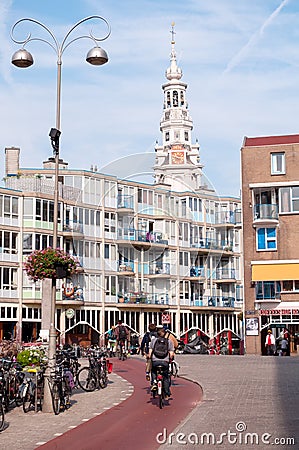
M78 373L79 386L87 392L104 389L108 385L108 364L106 352L88 356L89 367L82 367Z

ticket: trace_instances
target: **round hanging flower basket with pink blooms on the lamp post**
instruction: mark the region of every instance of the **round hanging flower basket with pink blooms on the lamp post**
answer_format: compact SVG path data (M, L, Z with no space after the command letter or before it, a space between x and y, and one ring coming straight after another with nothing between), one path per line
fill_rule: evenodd
M44 278L65 278L76 272L79 262L60 248L35 250L24 263L24 270L33 281Z

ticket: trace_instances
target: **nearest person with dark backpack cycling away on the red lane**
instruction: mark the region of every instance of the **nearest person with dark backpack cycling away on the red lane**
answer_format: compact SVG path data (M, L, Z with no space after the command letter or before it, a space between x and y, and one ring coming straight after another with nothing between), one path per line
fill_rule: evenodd
M171 396L170 392L170 378L169 378L169 362L174 357L174 345L170 339L165 337L165 330L163 327L157 327L158 337L154 338L150 343L149 357L152 361L152 378L153 385L151 390L157 389L157 367L163 368L163 387L165 392L165 399Z

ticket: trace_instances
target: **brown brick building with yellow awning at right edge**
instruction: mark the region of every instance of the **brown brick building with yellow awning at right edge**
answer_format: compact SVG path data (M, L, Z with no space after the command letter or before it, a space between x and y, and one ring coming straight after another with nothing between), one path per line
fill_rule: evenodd
M266 334L299 332L299 135L245 137L241 148L247 353Z

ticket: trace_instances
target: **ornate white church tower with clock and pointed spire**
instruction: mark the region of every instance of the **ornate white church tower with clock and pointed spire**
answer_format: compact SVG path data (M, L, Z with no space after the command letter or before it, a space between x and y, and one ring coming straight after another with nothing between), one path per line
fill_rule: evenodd
M186 100L187 84L181 81L182 70L177 65L175 31L172 23L170 66L163 84L163 115L160 121L162 145L156 145L155 183L169 185L183 192L201 188L202 164L199 144L192 144L193 121Z

